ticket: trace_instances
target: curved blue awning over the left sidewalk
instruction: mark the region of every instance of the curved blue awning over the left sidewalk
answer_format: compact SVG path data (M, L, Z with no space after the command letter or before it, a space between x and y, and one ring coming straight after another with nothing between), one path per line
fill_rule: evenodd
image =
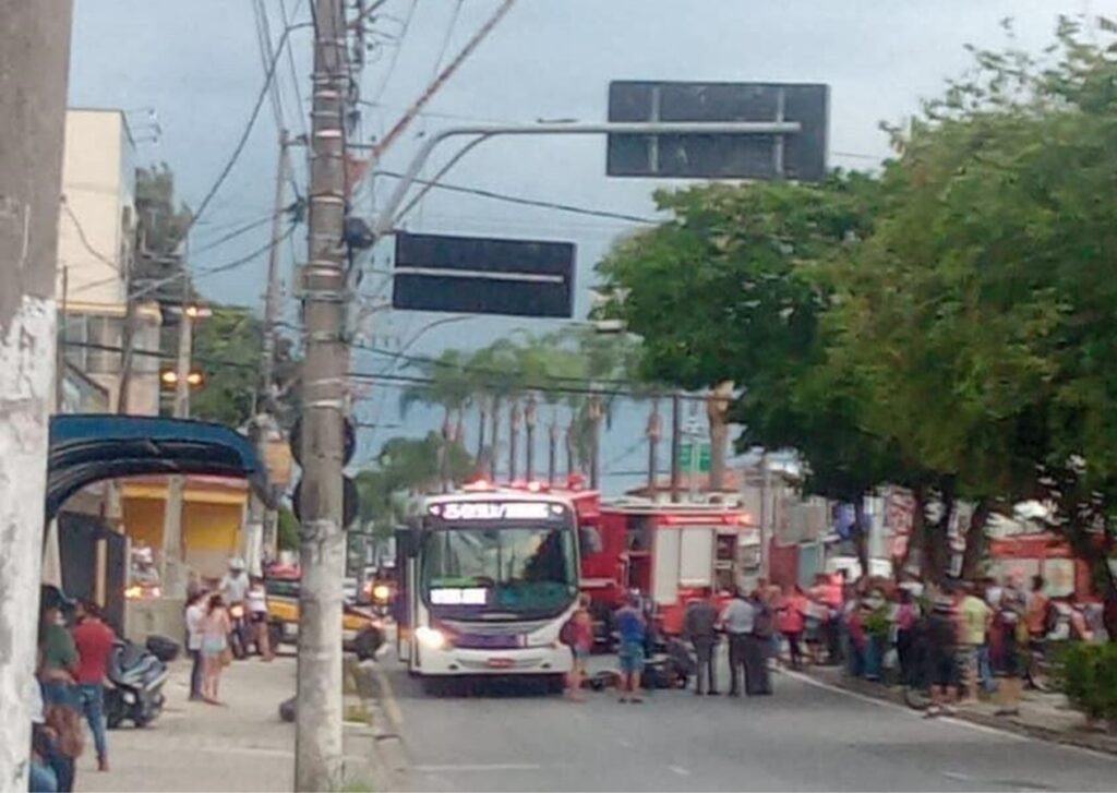
M112 413L55 415L48 459L47 520L83 487L131 476L233 477L267 494L267 471L251 441L223 424L206 421Z

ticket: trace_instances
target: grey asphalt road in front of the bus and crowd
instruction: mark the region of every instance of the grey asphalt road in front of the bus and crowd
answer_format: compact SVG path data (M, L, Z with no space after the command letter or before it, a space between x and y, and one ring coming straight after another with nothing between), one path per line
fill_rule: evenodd
M1113 791L1117 758L774 677L754 699L494 687L430 697L380 667L416 791Z

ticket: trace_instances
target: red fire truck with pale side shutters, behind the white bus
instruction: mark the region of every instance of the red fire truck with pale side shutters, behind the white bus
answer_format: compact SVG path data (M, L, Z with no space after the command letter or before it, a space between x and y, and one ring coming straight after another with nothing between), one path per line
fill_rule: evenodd
M760 532L742 508L726 504L601 504L598 547L582 550L582 591L608 625L624 594L650 599L659 629L682 630L687 603L704 592L728 600L758 571ZM608 629L611 630L611 629Z

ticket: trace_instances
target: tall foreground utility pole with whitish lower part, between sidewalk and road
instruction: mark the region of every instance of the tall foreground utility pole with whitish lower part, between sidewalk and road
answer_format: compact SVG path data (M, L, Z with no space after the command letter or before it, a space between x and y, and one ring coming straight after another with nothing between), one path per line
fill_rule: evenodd
M302 273L303 483L295 787L342 784L342 468L349 348L345 249L344 0L313 0L308 261Z

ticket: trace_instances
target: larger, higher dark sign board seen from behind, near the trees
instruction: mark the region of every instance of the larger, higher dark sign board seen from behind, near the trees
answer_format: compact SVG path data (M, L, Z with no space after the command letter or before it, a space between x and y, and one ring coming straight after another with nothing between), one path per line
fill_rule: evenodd
M610 135L610 176L790 179L827 175L830 87L799 83L609 84L610 122L799 122L783 135Z

